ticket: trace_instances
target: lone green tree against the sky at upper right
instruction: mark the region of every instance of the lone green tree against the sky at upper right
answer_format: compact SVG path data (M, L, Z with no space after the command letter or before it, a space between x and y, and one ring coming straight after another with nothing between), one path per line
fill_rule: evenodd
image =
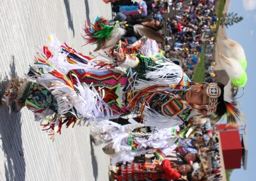
M239 17L237 13L225 13L221 16L220 24L222 27L225 25L228 28L228 26L241 22L241 20L243 20L243 17Z

